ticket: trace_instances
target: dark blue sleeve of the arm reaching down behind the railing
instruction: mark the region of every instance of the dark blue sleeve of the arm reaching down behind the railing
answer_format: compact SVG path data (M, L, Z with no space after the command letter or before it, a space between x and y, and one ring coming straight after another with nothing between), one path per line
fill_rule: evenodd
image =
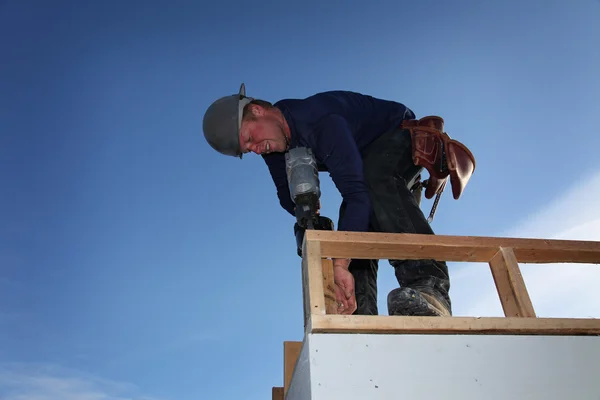
M325 117L315 127L313 142L311 148L315 156L325 164L346 202L338 230L366 232L371 199L364 179L362 157L348 122L336 114Z

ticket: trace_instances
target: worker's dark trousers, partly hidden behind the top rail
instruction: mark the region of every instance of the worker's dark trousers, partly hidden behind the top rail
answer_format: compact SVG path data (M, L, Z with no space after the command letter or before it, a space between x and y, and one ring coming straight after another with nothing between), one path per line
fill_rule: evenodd
M369 231L434 234L414 195L407 187L421 172L412 162L410 132L395 129L371 143L362 153L364 175L371 197ZM346 204L340 207L340 220ZM339 222L339 221L338 221ZM435 289L448 303L450 279L445 262L389 260L400 286ZM378 260L352 260L358 315L377 315Z

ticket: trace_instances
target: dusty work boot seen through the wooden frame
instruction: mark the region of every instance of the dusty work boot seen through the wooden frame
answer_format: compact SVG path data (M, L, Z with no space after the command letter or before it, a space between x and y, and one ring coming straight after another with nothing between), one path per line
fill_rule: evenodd
M388 315L451 317L450 303L436 289L402 287L388 294Z

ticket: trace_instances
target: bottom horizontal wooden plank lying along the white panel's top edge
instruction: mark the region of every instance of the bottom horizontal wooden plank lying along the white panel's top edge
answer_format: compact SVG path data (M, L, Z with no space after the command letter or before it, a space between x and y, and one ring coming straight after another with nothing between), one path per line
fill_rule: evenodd
M600 335L600 319L313 315L311 333Z

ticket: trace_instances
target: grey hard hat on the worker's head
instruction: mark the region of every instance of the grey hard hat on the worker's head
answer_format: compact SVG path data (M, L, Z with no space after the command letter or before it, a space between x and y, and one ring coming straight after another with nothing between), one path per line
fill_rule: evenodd
M215 100L204 113L202 129L210 146L221 154L242 158L240 127L244 106L253 99L246 97L246 86L238 94Z

